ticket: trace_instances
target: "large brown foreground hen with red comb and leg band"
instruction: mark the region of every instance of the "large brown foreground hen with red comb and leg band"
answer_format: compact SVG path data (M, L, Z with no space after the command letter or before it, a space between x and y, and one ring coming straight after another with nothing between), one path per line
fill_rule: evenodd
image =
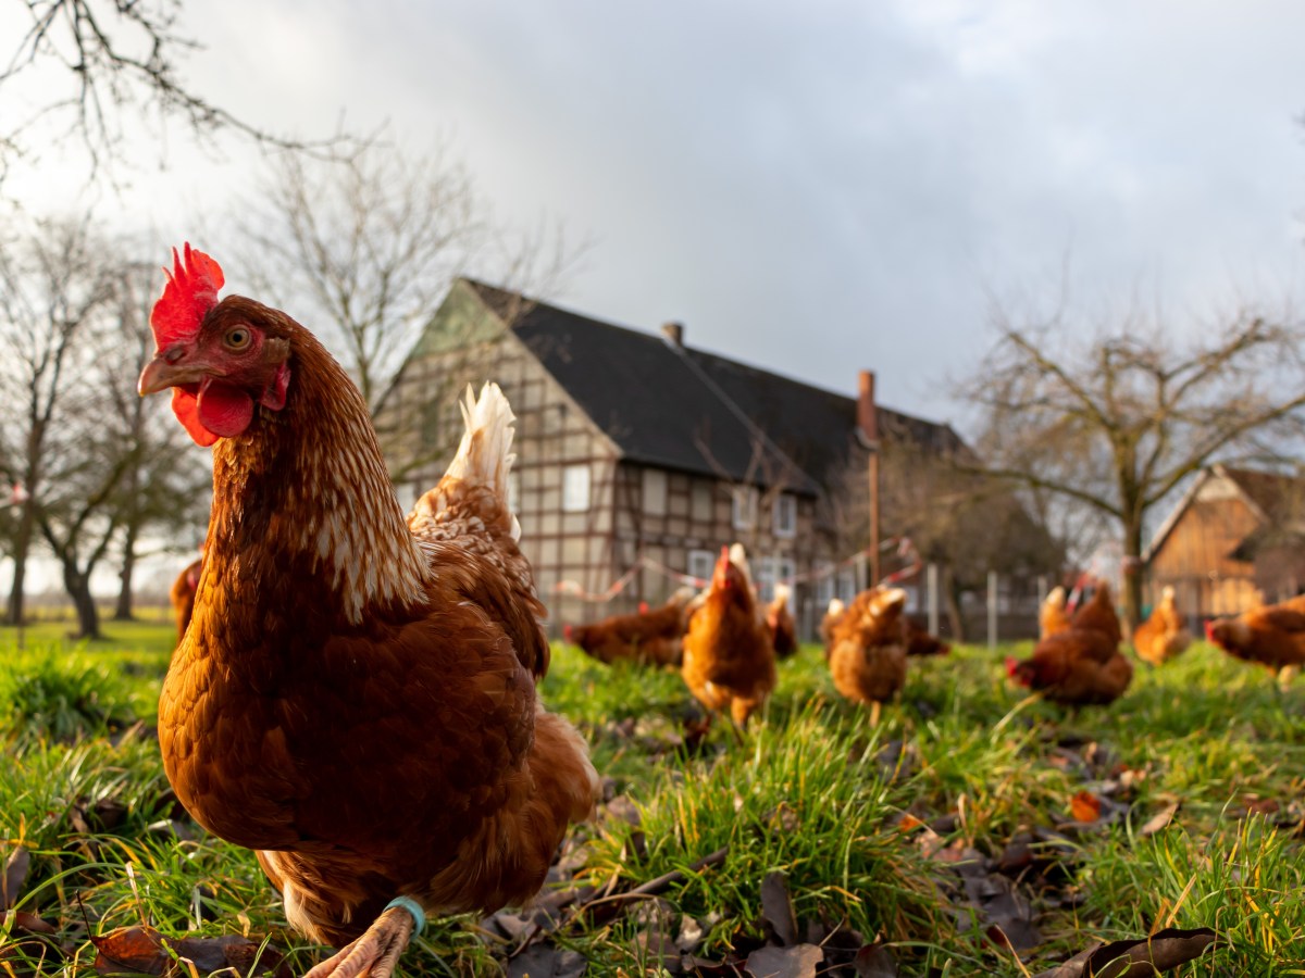
M548 644L506 506L513 416L492 385L468 398L448 473L405 522L345 370L221 287L187 246L140 381L214 445L164 767L197 822L257 850L295 927L347 944L313 978L384 978L424 913L531 897L595 799L583 742L535 692Z

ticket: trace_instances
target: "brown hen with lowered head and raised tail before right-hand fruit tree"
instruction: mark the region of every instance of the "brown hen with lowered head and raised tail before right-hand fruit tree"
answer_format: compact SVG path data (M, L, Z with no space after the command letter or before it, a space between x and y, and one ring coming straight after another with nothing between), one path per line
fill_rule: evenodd
M1006 660L1021 686L1069 705L1112 703L1133 679L1133 664L1120 653L1120 618L1104 583L1070 619L1067 630L1037 643L1031 659Z

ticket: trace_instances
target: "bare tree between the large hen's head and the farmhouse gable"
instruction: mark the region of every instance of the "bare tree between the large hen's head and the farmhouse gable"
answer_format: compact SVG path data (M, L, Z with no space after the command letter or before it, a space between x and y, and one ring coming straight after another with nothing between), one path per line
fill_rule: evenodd
M495 227L448 149L410 158L380 141L331 162L275 158L236 227L248 243L234 249L241 276L260 299L322 335L373 416L455 276L483 269L500 283L493 312L510 327L534 306L526 293L547 295L578 257L560 231ZM423 360L438 361L440 377L449 378L424 385L420 413L432 429L457 400L453 378L485 357L491 338L475 331L476 323L446 317L438 336L427 335ZM444 441L427 441L395 479L445 454Z

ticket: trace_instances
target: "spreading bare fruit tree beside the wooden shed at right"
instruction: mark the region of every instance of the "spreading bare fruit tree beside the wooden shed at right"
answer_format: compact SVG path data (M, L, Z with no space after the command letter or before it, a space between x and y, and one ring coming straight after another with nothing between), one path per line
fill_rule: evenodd
M1099 329L1064 303L1041 321L998 310L996 326L996 346L960 387L983 412L984 471L1113 524L1137 623L1152 507L1216 456L1300 434L1302 331L1244 312L1180 338L1135 303Z

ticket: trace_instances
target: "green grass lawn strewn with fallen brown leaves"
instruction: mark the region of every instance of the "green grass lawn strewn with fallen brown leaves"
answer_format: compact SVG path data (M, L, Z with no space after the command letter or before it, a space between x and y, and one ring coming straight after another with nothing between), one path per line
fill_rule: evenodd
M20 934L10 914L0 971L89 969L90 935L150 923L171 939L268 939L303 973L320 949L163 776L151 722L171 627L108 622L94 647L67 645L65 630L29 629L22 651L0 631L0 838L30 854L10 872L14 909L54 928ZM1305 681L1282 696L1266 672L1197 644L1163 670L1139 665L1114 705L1069 716L1005 682L1001 657L1024 651L912 662L870 729L805 647L739 742L720 724L692 733L677 674L556 649L544 699L585 732L615 799L564 849L557 888L581 897L544 900L560 922L435 922L401 969L499 974L517 952L523 974L542 923L532 951L576 952L589 974L666 973L683 948L703 974L731 974L722 962L776 932L779 893L790 943L823 944L822 974L856 974L851 953L877 940L900 974L1026 975L1163 927L1219 935L1172 974L1305 974ZM673 871L645 900L611 898Z

